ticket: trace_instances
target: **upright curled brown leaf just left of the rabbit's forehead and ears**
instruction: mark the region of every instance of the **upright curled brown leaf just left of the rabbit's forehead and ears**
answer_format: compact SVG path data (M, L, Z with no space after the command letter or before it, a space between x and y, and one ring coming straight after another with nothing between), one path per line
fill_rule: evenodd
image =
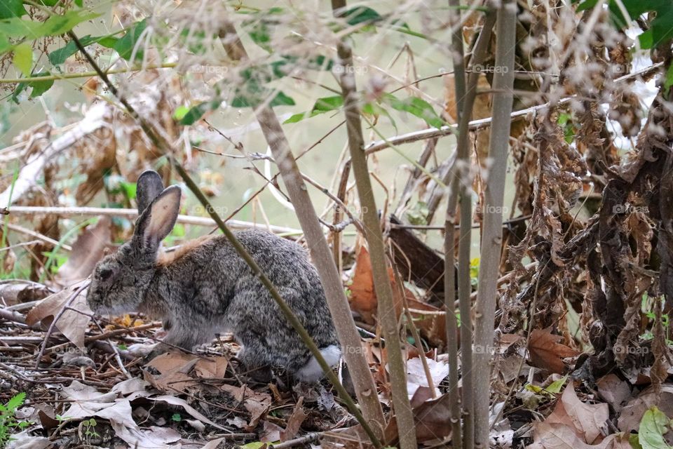
M56 274L56 282L61 286L86 279L93 272L96 263L103 257L105 249L111 246L112 220L104 215L93 227L88 227L72 245L67 262Z

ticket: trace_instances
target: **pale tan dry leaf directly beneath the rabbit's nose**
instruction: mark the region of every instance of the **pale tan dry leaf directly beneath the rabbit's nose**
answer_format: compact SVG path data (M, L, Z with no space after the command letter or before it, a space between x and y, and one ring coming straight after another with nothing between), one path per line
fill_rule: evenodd
M46 319L49 317L52 317L53 319L53 317L57 316L80 286L81 283L78 283L44 298L28 312L26 315L26 323L29 326L32 326L38 321L48 321L47 323L44 323L48 326L48 323L51 321ZM83 292L80 292L79 295L70 302L70 307L82 311L85 314L93 314L93 311L91 311L86 304L86 297ZM85 314L79 314L73 310L66 310L56 323L56 328L60 330L68 340L82 349L84 348L84 333L86 332L90 321L90 318Z

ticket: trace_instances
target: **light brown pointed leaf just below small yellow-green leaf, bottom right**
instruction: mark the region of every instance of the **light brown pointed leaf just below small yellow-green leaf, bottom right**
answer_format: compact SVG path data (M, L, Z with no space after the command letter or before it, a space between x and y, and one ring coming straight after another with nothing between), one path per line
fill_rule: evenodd
M573 384L569 384L545 424L562 424L573 429L576 436L585 443L595 444L600 442L601 429L608 418L608 404L583 403L577 397Z

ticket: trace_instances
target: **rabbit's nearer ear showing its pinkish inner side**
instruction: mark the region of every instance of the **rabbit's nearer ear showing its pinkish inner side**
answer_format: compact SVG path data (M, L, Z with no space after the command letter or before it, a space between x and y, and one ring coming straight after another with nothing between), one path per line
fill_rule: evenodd
M159 194L138 217L133 239L145 253L155 253L170 234L180 210L182 190L172 185Z

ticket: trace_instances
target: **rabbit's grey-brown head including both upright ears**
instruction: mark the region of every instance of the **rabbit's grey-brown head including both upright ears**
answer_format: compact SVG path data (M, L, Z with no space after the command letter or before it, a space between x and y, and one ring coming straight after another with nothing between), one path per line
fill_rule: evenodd
M180 197L180 188L164 189L155 171L147 170L140 175L137 182L140 216L133 237L96 265L86 296L93 311L109 314L137 311L156 271L161 241L177 220Z

